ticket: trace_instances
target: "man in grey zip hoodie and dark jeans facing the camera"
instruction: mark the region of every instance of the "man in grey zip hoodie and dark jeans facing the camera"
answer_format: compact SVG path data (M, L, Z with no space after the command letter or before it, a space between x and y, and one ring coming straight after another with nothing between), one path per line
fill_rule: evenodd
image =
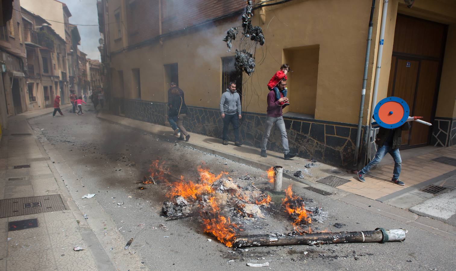
M233 125L234 145L241 146L239 141L239 119L241 118L241 98L236 92L236 83L229 82L226 92L220 98L220 112L223 118L223 145L228 145L229 123Z

